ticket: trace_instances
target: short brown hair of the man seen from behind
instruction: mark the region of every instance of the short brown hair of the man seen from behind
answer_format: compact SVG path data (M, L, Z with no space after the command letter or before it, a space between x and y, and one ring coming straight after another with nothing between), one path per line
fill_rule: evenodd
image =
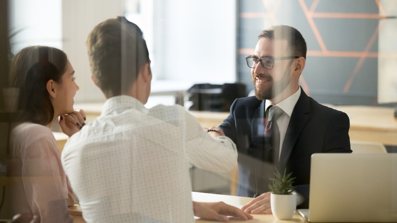
M125 17L98 24L87 38L94 82L106 98L126 94L149 62L142 31Z

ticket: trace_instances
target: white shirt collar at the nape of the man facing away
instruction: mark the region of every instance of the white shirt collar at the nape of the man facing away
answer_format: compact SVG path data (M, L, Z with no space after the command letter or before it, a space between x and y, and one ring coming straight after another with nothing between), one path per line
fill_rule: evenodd
M123 108L124 110L128 108L133 108L136 110L146 109L145 106L142 104L142 102L140 102L136 98L127 95L120 95L120 96L114 96L106 100L106 102L103 105L101 115L107 115L113 112L114 110L118 110L120 108Z

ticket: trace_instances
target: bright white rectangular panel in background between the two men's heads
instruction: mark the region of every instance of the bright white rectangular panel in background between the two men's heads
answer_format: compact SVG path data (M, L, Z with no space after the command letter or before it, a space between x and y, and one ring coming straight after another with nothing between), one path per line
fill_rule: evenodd
M235 0L154 0L158 79L236 80Z

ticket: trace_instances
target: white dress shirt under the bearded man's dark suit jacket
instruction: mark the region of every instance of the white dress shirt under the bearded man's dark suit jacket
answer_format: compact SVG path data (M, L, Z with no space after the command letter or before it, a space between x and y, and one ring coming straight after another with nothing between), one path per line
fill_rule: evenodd
M280 149L278 154L279 158L281 155L281 148L283 148L285 133L287 133L289 120L291 119L292 111L294 110L295 105L298 102L299 96L301 96L301 87L299 87L298 90L295 93L293 93L291 96L285 98L284 100L276 104L276 106L278 106L284 111L284 113L277 119L278 130L280 132ZM274 104L272 104L272 102L270 102L269 100L266 100L265 111L271 105ZM297 192L297 206L301 205L303 202L304 202L303 195Z

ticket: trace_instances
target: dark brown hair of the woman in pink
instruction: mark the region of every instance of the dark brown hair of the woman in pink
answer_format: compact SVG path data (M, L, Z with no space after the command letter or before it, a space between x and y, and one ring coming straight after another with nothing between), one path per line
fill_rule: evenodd
M57 48L28 46L12 61L10 84L19 88L17 122L29 121L48 125L54 118L54 107L47 91L47 82L62 83L67 69L67 56Z

